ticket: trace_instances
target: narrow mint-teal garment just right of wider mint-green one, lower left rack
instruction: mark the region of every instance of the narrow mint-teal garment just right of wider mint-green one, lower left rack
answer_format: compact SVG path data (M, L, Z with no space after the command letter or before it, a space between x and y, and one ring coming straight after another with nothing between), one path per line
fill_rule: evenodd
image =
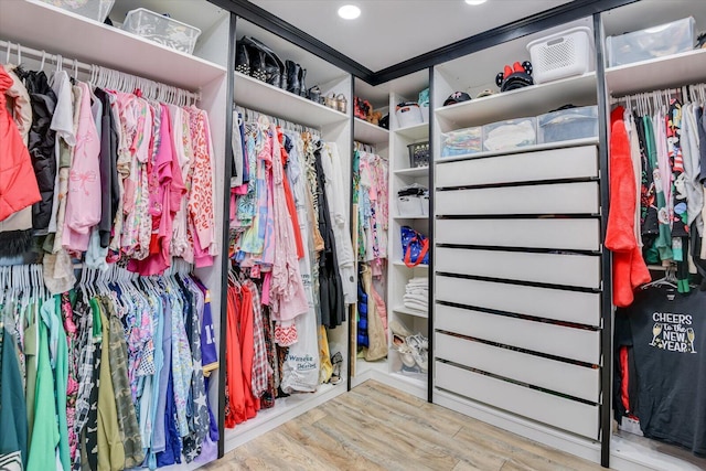
M56 413L58 417L58 458L64 470L71 469L71 454L68 452L68 425L66 422L66 384L68 382L68 344L66 343L66 331L61 318L61 296L54 296L52 322L52 335L56 338L56 356L54 357L54 385L56 387Z

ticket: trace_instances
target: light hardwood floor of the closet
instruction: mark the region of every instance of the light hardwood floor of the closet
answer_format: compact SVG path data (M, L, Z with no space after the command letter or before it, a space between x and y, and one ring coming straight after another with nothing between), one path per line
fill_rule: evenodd
M202 469L602 470L374 381Z

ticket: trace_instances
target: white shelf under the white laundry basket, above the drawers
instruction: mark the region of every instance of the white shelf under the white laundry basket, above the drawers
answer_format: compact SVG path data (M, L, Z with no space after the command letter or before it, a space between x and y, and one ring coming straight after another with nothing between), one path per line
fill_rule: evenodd
M441 131L447 132L503 119L542 115L569 103L576 106L595 105L598 97L596 87L596 73L590 72L445 106L437 108L435 114L441 118Z

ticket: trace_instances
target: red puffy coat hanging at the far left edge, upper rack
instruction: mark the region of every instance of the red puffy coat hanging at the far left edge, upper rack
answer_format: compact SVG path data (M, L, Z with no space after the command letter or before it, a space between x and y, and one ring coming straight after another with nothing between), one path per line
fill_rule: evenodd
M41 200L30 151L7 108L12 84L0 65L0 221Z

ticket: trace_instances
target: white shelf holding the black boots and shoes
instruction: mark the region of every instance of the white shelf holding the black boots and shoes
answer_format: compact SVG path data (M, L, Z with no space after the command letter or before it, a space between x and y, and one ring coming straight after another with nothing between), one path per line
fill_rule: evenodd
M239 72L235 73L234 99L238 106L312 128L349 120L349 116Z

